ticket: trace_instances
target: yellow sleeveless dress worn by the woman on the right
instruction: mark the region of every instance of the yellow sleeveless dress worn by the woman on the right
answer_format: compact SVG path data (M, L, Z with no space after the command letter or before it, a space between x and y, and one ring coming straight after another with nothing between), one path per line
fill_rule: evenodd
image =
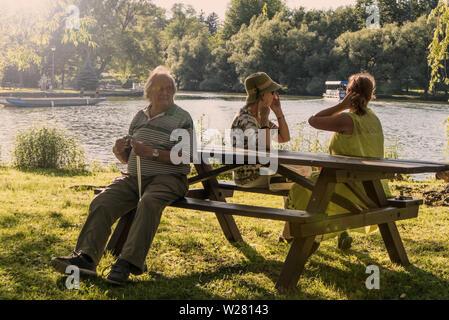
M367 113L363 116L359 116L353 112L347 114L354 122L354 131L351 135L335 133L329 145L330 154L350 157L383 158L384 135L382 125L374 112L371 109L367 109ZM311 180L316 181L318 175L319 172L314 172L311 176ZM362 192L365 192L361 182L357 183L357 185ZM391 192L388 187L388 182L383 180L382 185L387 198L390 198ZM336 184L335 193L349 199L360 207L367 209L367 206L343 183ZM295 184L290 189L285 207L293 210L306 210L311 194L312 192L310 190ZM349 212L332 202L329 203L326 209L326 214L330 216L344 213ZM355 229L357 232L366 234L377 230L377 226ZM338 233L327 234L321 240L329 239L336 235L338 235ZM320 241L320 237L317 237L317 241Z

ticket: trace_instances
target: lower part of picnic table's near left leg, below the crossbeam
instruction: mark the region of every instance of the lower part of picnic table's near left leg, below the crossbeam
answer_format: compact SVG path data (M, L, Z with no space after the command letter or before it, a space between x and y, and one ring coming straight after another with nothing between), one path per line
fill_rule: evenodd
M294 229L294 227L292 227ZM282 266L276 289L285 292L294 288L304 271L315 237L294 238L287 258Z

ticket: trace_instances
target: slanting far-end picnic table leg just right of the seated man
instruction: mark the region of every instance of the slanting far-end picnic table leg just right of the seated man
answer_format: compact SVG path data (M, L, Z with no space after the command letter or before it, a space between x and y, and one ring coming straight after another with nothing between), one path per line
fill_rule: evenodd
M204 163L195 165L195 168L200 175L205 175L207 172L212 171L210 166ZM209 193L209 199L226 202L226 198L220 191L218 181L215 177L211 177L209 180L203 181L202 184L206 192ZM231 242L243 241L242 235L240 234L237 224L232 216L224 215L222 213L216 213L215 215L226 239Z

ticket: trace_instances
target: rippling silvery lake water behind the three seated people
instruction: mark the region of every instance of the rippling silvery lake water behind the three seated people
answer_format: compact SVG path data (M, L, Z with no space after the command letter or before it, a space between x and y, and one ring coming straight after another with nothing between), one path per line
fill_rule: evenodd
M243 106L243 96L209 93L181 93L176 103L189 111L196 126L224 130ZM282 107L292 136L303 124L303 135L315 136L317 131L304 122L320 110L332 106L324 100L285 99ZM19 108L0 105L1 159L10 160L15 133L33 124L54 123L76 135L89 159L104 164L117 162L111 152L115 140L127 134L133 116L147 106L143 99L111 100L98 106L59 108ZM397 139L401 159L445 161L444 121L449 105L375 101L370 104L384 128L386 145ZM275 119L274 115L272 117ZM332 133L320 132L318 138L326 144ZM307 151L307 150L304 150Z

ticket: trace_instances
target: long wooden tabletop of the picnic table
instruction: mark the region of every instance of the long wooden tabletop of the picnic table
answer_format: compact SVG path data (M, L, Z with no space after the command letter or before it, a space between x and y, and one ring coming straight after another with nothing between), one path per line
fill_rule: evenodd
M204 159L206 157L221 161L223 164L268 164L270 161L278 161L279 164L304 165L311 167L322 167L342 170L376 171L383 173L417 174L429 172L449 171L448 163L439 163L422 160L392 160L356 158L345 156L332 156L322 153L278 151L276 154L257 153L255 151L231 148L203 149L199 153ZM244 159L239 163L238 158ZM253 160L251 162L250 160ZM231 163L229 163L231 162Z

